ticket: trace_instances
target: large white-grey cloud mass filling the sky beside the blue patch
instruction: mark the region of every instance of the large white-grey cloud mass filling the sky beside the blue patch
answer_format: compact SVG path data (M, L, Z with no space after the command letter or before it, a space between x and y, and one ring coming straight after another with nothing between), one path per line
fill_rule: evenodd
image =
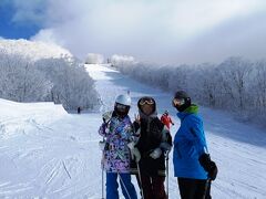
M266 10L265 0L14 2L18 8L14 21L35 19L43 27L32 39L55 41L80 57L93 52L105 56L127 54L144 61L193 63L219 61L237 53L246 55L247 44L253 43L265 52L257 36L262 31L266 33L266 24L262 23L266 17L260 14ZM40 15L38 2L43 6ZM247 29L243 28L245 21ZM256 29L254 32L248 30L250 25Z

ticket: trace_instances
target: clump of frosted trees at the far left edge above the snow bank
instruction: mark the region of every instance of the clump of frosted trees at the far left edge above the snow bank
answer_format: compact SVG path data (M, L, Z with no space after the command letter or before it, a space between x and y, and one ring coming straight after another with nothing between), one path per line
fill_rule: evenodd
M29 59L0 52L0 97L17 102L44 101L51 82Z

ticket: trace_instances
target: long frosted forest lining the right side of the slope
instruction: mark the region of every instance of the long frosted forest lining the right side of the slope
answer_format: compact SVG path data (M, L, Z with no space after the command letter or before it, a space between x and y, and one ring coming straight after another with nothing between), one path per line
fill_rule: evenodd
M266 125L266 61L229 57L219 64L156 65L133 63L114 65L123 74L166 91L187 91L204 106L227 109L237 118Z

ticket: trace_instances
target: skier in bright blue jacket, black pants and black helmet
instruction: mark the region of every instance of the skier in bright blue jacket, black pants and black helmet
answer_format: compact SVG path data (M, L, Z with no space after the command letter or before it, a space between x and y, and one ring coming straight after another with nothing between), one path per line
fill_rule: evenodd
M181 126L174 137L174 175L177 177L182 199L206 199L209 196L207 172L198 158L207 150L203 121L198 116L198 106L192 104L184 91L175 93L172 101L178 111Z

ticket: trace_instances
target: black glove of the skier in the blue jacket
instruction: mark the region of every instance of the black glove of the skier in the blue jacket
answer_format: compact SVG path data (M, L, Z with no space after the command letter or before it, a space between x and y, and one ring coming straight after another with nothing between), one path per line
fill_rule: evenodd
M216 166L216 164L211 159L209 154L203 154L200 156L198 158L200 164L202 165L202 167L204 168L204 170L207 171L208 174L208 178L212 180L215 180L217 172L218 172L218 168Z

